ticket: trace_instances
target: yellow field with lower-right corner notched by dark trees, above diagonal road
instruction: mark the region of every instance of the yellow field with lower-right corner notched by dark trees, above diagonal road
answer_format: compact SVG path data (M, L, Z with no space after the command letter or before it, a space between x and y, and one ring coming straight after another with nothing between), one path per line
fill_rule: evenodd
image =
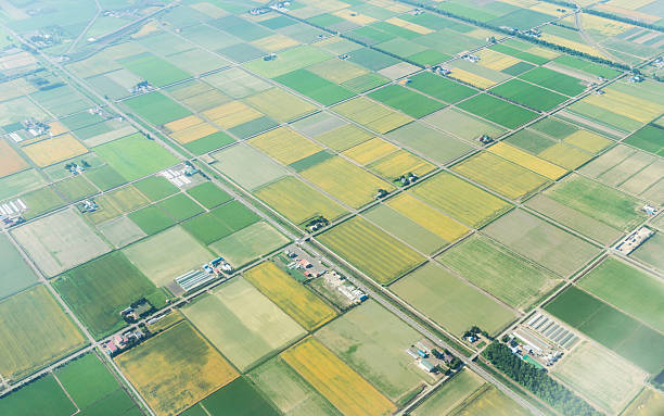
M334 220L347 213L336 202L293 176L279 179L254 193L297 225L304 225L319 215Z

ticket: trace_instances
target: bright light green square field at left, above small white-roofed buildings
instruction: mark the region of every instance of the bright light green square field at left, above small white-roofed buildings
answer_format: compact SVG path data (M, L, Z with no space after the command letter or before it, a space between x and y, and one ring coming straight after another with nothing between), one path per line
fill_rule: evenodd
M140 133L98 146L94 152L127 180L173 166L178 160Z

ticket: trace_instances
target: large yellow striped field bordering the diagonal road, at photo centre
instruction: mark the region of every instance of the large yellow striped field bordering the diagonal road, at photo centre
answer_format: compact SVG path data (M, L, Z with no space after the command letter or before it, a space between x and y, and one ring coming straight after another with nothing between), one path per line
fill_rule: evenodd
M424 262L424 257L362 217L353 217L318 237L381 285Z

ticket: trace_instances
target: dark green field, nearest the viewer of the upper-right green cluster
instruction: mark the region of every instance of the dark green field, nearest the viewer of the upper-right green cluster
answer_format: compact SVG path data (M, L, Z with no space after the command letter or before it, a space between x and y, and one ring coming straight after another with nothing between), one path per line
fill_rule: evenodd
M516 128L537 117L537 113L483 93L458 104L459 109L507 128Z

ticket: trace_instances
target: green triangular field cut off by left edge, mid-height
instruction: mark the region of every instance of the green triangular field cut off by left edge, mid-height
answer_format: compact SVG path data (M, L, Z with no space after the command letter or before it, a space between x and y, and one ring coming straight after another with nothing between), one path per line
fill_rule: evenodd
M37 282L37 275L10 239L0 234L0 299Z

